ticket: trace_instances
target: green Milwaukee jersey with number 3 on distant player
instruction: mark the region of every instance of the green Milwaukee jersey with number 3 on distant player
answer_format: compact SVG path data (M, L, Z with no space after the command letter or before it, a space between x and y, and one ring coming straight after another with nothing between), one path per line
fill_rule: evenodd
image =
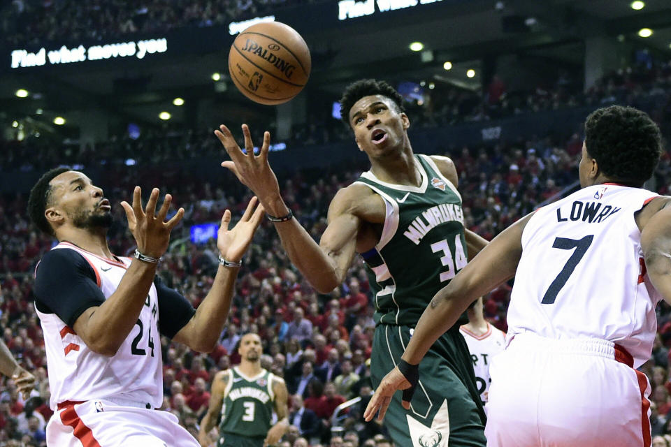
M273 418L272 382L273 374L266 369L256 377L244 376L237 367L229 369L219 433L265 437Z

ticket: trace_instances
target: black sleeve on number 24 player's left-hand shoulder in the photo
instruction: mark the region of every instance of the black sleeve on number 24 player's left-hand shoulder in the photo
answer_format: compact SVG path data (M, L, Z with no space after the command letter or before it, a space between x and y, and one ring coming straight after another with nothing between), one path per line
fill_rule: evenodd
M72 328L86 309L103 302L96 273L84 256L71 249L43 256L35 274L35 305L40 312L56 314Z

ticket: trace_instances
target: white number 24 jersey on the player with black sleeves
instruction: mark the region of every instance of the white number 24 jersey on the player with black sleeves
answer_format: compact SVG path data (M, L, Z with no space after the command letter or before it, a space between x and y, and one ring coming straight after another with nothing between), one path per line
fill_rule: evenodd
M61 242L53 249L71 249L84 256L96 273L105 298L112 295L131 264L110 261L89 251ZM152 284L138 321L114 356L95 353L56 314L37 311L44 332L44 344L51 389L50 406L59 402L117 400L138 402L158 408L163 403L161 337L158 329L159 303Z

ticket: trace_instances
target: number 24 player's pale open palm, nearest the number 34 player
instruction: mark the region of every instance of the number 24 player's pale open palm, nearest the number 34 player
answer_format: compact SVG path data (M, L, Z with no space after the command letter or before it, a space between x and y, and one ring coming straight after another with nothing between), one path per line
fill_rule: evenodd
M229 229L231 223L231 212L224 211L222 226L217 233L217 248L226 261L236 263L243 257L247 248L250 247L254 231L259 228L259 223L264 218L264 207L259 199L254 196L247 205L245 214L240 218L233 228Z

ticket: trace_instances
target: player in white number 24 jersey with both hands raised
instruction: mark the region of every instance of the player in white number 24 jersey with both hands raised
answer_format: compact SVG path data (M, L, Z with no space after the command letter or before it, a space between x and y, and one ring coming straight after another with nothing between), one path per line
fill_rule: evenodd
M159 337L196 351L213 349L229 312L238 261L264 210L252 199L231 230L231 213L224 212L217 237L222 265L196 311L156 276L171 230L184 214L180 208L166 221L171 196L156 213L158 199L154 189L143 210L136 186L132 206L122 202L137 243L131 260L111 253L110 203L86 175L50 170L31 191L31 219L59 240L38 264L35 279L55 411L46 430L50 446L198 446L175 416L155 410L163 400Z

